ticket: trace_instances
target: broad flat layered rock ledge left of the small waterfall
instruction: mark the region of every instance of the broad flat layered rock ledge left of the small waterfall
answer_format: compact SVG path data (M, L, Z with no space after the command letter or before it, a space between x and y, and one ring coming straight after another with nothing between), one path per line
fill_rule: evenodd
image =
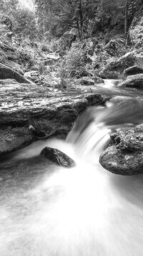
M14 152L34 140L31 125L38 134L66 134L79 112L88 106L103 104L99 93L49 93L39 86L0 82L0 156Z

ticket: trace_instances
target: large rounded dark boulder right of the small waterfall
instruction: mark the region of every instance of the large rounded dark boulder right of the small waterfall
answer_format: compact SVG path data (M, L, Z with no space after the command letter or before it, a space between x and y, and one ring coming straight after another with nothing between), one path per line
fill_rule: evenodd
M143 173L143 125L111 134L109 145L100 156L101 165L121 175Z

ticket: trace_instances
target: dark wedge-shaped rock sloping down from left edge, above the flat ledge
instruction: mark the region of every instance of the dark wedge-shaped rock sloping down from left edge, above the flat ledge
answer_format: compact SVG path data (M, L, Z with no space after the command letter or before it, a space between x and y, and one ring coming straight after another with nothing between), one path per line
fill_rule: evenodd
M24 76L21 76L18 72L12 68L7 67L0 63L0 79L15 79L19 83L30 83Z

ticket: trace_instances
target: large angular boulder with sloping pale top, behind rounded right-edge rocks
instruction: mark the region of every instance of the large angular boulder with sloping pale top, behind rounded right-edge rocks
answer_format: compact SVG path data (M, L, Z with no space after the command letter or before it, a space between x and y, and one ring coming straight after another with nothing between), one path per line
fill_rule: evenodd
M122 79L124 69L133 66L135 60L136 58L132 52L127 52L127 54L107 64L106 67L99 72L99 76L103 79Z

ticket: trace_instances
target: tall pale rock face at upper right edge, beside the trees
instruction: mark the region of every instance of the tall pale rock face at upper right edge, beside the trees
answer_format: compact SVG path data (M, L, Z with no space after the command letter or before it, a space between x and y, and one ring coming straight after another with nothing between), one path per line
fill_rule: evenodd
M134 16L129 27L129 39L136 47L143 46L143 7Z

